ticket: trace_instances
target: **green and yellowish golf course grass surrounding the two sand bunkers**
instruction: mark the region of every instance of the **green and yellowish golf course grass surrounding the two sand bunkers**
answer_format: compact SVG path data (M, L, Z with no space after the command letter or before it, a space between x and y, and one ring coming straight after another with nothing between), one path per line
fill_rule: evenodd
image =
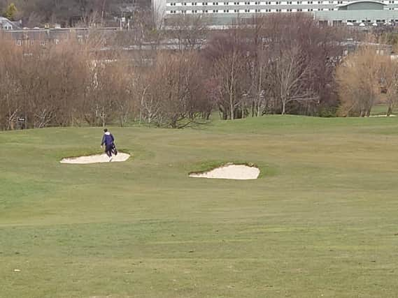
M0 297L397 297L398 119L0 133ZM229 161L255 181L193 179ZM15 272L15 269L20 269Z

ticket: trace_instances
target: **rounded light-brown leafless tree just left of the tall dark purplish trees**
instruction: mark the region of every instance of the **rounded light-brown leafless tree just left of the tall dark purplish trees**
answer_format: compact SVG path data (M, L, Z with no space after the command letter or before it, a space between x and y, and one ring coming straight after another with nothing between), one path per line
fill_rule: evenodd
M154 71L141 75L140 119L171 128L197 121L208 100L202 69L197 54L159 54Z

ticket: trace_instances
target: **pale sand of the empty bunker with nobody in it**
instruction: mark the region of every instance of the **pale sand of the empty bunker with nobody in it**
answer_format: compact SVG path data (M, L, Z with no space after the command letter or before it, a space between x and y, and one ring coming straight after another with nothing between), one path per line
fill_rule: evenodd
M250 180L257 179L259 175L260 170L257 167L249 167L248 165L225 165L208 172L190 174L190 177Z

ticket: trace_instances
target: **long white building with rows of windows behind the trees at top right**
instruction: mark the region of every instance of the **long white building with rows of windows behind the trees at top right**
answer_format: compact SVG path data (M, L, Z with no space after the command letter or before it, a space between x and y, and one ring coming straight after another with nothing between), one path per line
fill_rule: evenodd
M155 20L158 24L164 24L167 19L178 15L206 15L211 20L211 23L226 25L231 24L238 16L245 18L256 14L294 12L311 13L314 17L327 21L329 24L347 23L347 17L350 20L355 20L357 12L361 12L357 18L358 24L360 24L362 19L372 24L377 20L385 20L385 22L396 22L395 20L398 20L398 0L152 1ZM369 18L367 15L369 15Z

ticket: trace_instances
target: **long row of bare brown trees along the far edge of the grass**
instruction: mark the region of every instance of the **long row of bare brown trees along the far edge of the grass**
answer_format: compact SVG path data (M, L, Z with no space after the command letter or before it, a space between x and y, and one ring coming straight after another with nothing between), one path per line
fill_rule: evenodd
M0 129L17 128L20 118L28 128L182 128L213 111L221 119L366 116L381 93L390 110L396 102L397 64L373 47L343 57L346 32L306 15L271 15L214 32L190 24L169 34L173 50L128 53L118 38L96 32L84 43L46 47L16 47L0 37ZM104 54L105 45L115 46Z

